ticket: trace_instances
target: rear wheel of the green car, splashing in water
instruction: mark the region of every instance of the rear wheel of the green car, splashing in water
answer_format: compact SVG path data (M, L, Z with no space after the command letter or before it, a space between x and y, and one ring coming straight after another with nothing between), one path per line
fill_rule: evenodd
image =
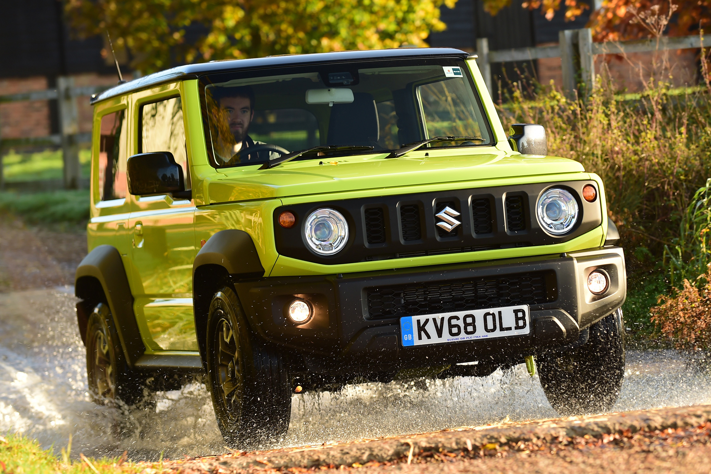
M132 405L143 396L140 377L125 362L124 353L106 303L99 303L87 323L87 382L92 401L99 405Z

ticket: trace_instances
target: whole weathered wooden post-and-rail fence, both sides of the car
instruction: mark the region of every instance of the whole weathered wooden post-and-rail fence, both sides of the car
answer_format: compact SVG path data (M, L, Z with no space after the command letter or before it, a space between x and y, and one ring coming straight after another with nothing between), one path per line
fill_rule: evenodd
M663 36L659 41L652 39L619 43L593 43L592 31L589 28L560 31L558 38L560 43L557 45L496 51L488 49L487 38L476 40L476 53L479 55L477 63L486 82L486 88L491 91L491 63L560 58L563 75L562 90L567 97L572 98L579 85L582 85L587 92L592 91L595 77L595 55L711 47L711 38L700 38L699 36ZM105 86L74 87L72 77L59 77L56 89L0 95L0 103L57 99L60 117L60 133L55 135L2 139L0 130L0 189L4 185L2 151L10 146L23 145L61 146L64 161L64 186L65 188L79 188L79 144L90 142L91 134L79 133L77 97L100 94L108 88Z

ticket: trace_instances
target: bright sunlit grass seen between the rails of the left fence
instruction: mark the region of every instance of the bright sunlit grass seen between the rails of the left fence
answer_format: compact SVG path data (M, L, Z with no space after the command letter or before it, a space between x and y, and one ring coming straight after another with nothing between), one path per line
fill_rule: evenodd
M91 151L79 151L79 163L82 176L89 176ZM10 150L2 157L3 176L7 183L23 181L41 181L61 179L63 160L61 150L36 151L34 153L17 153Z

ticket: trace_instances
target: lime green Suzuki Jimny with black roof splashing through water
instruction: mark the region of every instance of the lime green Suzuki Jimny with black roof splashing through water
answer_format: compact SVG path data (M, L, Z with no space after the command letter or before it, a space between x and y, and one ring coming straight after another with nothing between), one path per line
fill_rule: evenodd
M225 440L252 446L287 431L294 392L405 370L528 361L561 414L616 401L603 183L540 125L506 136L475 55L186 65L92 104L75 291L96 402L203 373Z

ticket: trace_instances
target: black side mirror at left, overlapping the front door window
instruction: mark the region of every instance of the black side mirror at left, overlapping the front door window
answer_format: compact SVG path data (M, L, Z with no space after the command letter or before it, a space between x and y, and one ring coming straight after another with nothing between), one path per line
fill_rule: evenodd
M169 151L129 156L126 174L129 193L132 195L179 193L185 190L183 168Z

